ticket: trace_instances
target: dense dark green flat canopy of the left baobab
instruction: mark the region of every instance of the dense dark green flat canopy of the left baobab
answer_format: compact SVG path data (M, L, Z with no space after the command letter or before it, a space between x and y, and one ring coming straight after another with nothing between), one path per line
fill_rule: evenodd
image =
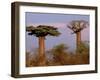
M47 26L47 25L39 25L37 27L28 26L26 27L26 31L28 31L29 35L34 35L36 37L44 37L47 35L50 36L59 36L61 33L58 31L58 28L54 26Z

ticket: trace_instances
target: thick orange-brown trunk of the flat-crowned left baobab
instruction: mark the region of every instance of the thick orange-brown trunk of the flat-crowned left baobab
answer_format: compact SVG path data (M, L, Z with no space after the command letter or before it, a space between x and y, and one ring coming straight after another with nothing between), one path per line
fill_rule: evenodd
M45 59L45 37L39 37L39 66L44 66L46 64Z

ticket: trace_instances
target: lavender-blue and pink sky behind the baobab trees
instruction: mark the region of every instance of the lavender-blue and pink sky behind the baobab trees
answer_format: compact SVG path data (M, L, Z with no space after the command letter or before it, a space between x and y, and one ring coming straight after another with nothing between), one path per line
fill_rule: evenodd
M89 22L89 15L77 14L54 14L54 13L25 13L26 26L50 25L57 27L61 35L59 37L47 36L45 40L46 50L53 48L57 44L64 43L69 47L69 51L74 51L76 48L76 35L71 34L67 25L72 20L85 20ZM81 32L82 41L89 41L89 26ZM38 48L38 38L30 36L26 32L26 51L32 52Z

